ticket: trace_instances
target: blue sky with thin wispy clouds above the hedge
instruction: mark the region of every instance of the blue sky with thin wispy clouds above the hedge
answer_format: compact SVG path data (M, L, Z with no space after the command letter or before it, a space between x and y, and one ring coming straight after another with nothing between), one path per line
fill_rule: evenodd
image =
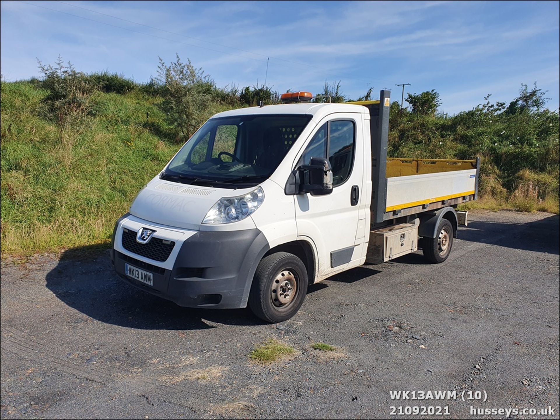
M2 1L0 70L6 80L38 76L36 59L60 54L78 70L144 82L158 56L179 53L218 86L242 87L264 83L269 57L267 84L279 92L340 80L349 97L373 86L400 101L395 84L411 83L409 92L436 89L454 114L487 93L510 101L536 81L556 109L559 4Z

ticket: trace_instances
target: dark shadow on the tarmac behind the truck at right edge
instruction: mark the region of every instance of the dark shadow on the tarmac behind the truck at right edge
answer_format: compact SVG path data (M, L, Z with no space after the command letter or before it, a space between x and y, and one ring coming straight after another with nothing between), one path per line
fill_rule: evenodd
M558 254L559 230L558 215L529 223L473 220L469 221L468 227L459 229L458 238L524 251Z

